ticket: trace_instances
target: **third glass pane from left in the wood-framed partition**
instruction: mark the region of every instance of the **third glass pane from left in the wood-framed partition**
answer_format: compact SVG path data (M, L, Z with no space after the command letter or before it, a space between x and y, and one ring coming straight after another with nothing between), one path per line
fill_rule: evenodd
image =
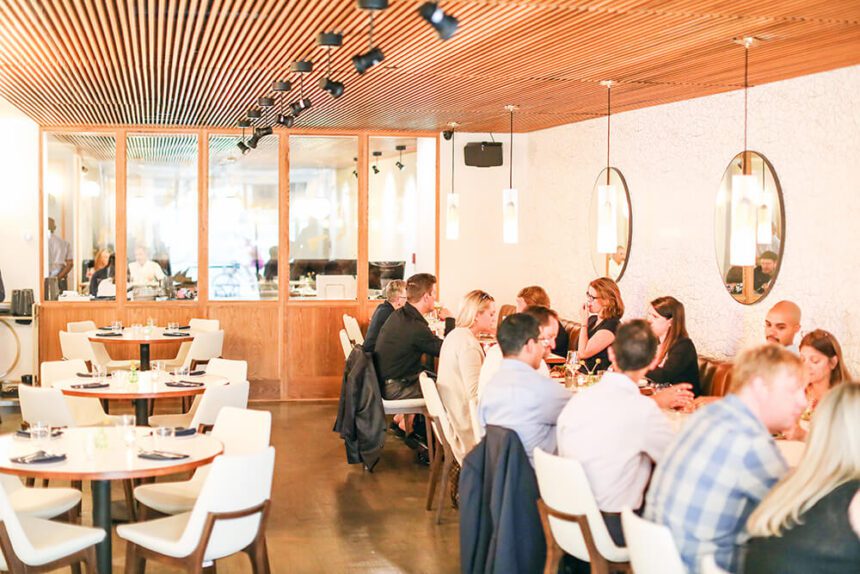
M209 138L209 298L278 298L278 138Z

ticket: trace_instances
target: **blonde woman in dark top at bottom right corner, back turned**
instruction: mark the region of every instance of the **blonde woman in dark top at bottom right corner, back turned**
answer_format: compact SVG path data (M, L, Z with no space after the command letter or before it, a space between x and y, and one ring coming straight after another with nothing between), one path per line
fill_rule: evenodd
M749 518L744 572L860 572L860 383L830 390L800 464Z

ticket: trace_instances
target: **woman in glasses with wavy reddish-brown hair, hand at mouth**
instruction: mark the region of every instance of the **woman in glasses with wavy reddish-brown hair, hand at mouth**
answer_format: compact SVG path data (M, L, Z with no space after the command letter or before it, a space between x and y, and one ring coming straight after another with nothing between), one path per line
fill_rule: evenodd
M609 347L615 341L615 331L624 315L624 302L618 284L607 277L589 283L585 296L577 358L584 361L589 372L604 371L609 368Z

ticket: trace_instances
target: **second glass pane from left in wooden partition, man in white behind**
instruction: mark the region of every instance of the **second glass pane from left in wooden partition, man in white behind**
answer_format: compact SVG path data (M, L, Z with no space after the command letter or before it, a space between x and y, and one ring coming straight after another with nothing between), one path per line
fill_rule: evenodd
M129 299L196 299L197 136L133 135L127 147Z

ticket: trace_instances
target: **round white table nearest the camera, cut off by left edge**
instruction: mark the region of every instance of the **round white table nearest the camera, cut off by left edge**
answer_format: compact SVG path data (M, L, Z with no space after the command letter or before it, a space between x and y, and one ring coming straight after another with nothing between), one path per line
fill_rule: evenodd
M96 546L98 569L111 572L110 481L145 478L187 472L209 464L221 454L220 441L196 434L188 438L162 439L158 449L187 454L181 460L148 460L138 456L139 449L155 448L149 428L136 429L136 444L127 446L120 427L64 429L62 436L43 441L39 448L30 439L15 434L0 436L0 472L54 480L89 480L93 494L93 525L104 529L105 539ZM98 446L97 446L98 445ZM101 448L99 448L101 447ZM10 458L36 450L65 454L66 460L53 463L17 464Z

